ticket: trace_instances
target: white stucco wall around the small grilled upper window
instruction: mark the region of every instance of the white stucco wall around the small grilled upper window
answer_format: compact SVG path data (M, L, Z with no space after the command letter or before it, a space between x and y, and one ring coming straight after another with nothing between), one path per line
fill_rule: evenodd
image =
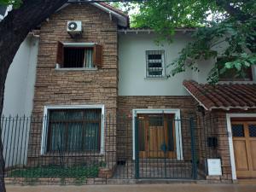
M172 44L155 44L154 34L148 32L119 33L119 96L188 96L183 88L184 79L207 82L212 61L199 61L200 73L190 69L169 79L146 79L146 50L161 50L166 53L166 65L177 59L178 53L191 40L189 34L177 32ZM171 67L166 68L170 72Z

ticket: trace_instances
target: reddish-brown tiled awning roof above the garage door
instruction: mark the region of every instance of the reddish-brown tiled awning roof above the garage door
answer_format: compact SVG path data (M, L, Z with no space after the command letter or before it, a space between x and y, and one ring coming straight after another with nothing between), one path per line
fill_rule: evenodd
M256 108L256 84L198 84L183 81L183 86L206 110Z

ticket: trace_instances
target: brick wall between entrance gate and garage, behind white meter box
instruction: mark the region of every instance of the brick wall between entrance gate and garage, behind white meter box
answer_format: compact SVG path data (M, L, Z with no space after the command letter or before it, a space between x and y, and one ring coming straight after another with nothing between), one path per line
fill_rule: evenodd
M198 103L195 102L195 105ZM255 110L213 110L206 111L205 115L197 113L197 127L201 169L206 169L206 160L211 158L220 158L222 166L222 176L218 177L222 182L230 182L232 180L232 170L230 163L230 145L228 137L226 113L256 113ZM207 146L207 137L217 137L218 147L213 149ZM207 179L216 179L216 177L207 177Z

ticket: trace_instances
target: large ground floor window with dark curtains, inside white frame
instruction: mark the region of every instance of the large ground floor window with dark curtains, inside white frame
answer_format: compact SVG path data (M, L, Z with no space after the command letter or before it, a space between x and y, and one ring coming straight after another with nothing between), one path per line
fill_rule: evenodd
M47 152L101 150L102 109L49 109Z

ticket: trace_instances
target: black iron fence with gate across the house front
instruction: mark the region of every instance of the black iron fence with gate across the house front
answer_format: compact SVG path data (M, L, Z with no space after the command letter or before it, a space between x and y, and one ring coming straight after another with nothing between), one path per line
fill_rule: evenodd
M5 178L23 184L204 179L207 158L218 157L215 123L168 114L104 117L97 111L2 117Z

